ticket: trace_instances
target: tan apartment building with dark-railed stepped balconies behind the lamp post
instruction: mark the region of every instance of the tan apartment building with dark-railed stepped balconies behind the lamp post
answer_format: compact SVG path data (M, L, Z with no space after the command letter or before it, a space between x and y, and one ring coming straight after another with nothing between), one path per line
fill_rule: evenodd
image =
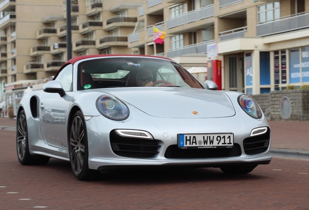
M0 81L53 76L67 60L68 0L0 0ZM70 0L72 56L130 54L144 0ZM18 82L21 81L21 82ZM20 86L20 85L19 85Z

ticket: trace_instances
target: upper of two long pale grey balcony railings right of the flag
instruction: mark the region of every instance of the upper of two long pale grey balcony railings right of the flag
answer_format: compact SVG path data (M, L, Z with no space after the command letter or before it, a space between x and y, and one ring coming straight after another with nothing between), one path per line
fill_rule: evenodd
M166 20L166 28L170 29L179 25L194 22L200 19L210 18L214 16L214 5L202 7L197 10L192 10L180 16L168 18Z

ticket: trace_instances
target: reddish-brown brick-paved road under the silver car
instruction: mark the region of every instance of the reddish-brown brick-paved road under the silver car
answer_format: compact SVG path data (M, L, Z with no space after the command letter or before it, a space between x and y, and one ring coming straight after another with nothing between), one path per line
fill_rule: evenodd
M309 159L274 157L248 175L219 169L119 171L78 181L68 162L22 166L0 130L0 210L304 210Z

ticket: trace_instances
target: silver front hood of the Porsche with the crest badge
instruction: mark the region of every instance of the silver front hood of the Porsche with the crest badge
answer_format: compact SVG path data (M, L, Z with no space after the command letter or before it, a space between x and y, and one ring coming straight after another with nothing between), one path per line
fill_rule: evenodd
M232 102L221 91L143 87L114 88L108 92L154 117L221 118L235 115Z

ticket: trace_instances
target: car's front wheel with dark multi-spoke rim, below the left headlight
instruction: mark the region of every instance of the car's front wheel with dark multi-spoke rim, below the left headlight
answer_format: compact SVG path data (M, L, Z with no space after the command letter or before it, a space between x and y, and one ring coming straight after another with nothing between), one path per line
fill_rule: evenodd
M74 114L69 131L69 155L72 172L78 180L94 177L96 171L88 168L86 123L80 110Z

